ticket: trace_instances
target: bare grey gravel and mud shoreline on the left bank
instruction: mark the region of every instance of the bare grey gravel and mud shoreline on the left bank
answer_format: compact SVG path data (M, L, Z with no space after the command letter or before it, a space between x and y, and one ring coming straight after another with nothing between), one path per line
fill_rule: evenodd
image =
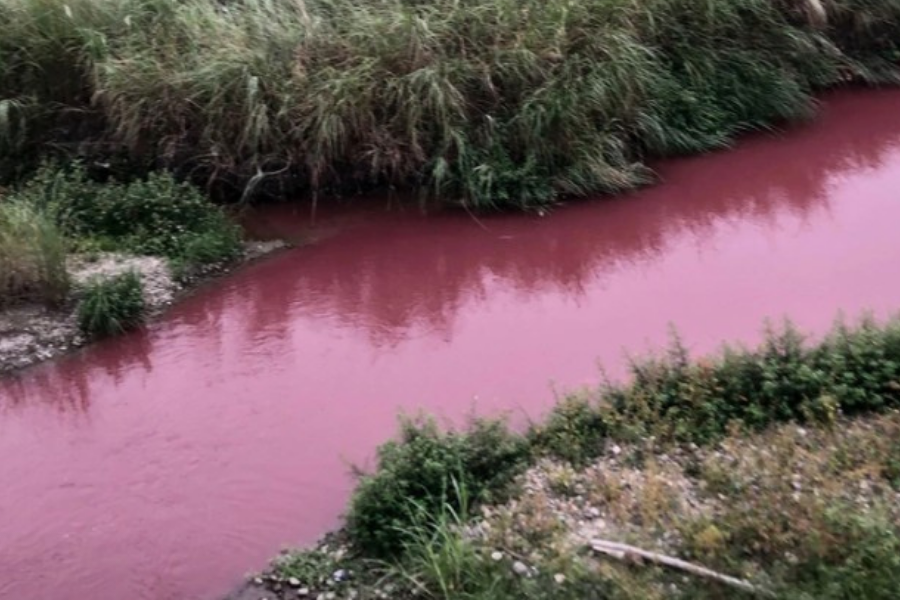
M67 261L67 270L74 290L62 306L25 303L0 308L0 377L58 358L92 341L82 335L76 322L78 288L88 281L137 271L144 286L147 320L152 321L204 283L285 247L279 240L245 242L237 260L207 265L180 278L173 275L168 261L159 257L122 253L73 255Z

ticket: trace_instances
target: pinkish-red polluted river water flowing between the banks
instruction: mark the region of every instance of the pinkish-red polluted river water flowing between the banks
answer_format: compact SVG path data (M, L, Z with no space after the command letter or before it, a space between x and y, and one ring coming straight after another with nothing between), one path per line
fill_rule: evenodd
M659 172L543 218L323 215L146 331L0 381L0 598L216 598L339 523L400 411L538 417L670 325L699 353L900 309L900 93Z

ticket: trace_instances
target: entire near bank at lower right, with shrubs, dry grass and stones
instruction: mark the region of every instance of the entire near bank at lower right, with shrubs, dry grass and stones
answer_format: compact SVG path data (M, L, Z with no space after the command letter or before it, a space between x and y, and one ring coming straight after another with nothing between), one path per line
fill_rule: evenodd
M900 589L900 320L693 360L676 341L627 384L526 433L408 421L347 525L246 598L892 599ZM598 542L705 565L744 591ZM749 591L748 591L749 590ZM321 594L319 596L319 594Z

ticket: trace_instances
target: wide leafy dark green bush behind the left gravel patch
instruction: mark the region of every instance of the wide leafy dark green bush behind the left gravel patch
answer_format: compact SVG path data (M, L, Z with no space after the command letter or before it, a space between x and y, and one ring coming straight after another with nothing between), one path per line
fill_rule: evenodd
M168 173L98 183L78 165L46 166L17 195L53 207L66 232L92 248L187 265L227 261L241 248L240 230L224 212Z

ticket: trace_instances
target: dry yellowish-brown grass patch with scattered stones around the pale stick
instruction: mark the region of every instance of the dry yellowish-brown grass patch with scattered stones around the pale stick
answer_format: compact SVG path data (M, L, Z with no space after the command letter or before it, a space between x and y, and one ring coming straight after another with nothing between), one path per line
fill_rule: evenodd
M518 499L485 510L470 532L533 564L578 555L591 538L604 538L695 560L785 598L887 600L900 585L898 439L900 413L891 412L734 434L705 449L648 455L625 445L574 472L545 461L523 476ZM726 593L648 566L601 561L597 568L615 582L615 598Z

